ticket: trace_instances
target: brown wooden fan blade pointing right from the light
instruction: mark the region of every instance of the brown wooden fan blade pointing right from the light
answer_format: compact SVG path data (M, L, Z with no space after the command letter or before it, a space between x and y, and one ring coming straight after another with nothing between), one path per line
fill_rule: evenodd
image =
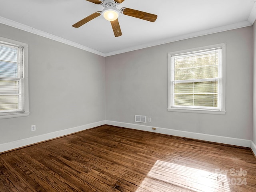
M132 16L132 17L136 17L139 19L143 19L146 21L150 21L150 22L155 22L157 15L151 14L151 13L146 13L143 11L138 11L138 10L134 10L134 9L130 9L130 8L122 8L121 9L124 15L128 15L128 16Z

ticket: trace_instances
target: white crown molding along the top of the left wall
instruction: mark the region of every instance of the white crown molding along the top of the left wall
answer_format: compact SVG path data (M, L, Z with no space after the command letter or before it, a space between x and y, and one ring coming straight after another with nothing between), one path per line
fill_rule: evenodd
M83 49L85 51L88 51L88 52L91 52L91 53L95 53L97 55L105 57L104 53L102 53L100 51L97 51L95 49L88 48L86 46L82 46L82 45L77 44L75 42L66 40L64 38L60 38L58 36L54 36L52 34L49 34L49 33L46 33L46 32L40 31L40 30L37 30L37 29L32 28L30 26L26 26L24 24L20 24L18 22L15 22L15 21L3 18L3 17L0 17L0 23L8 25L8 26L11 26L11 27L14 27L14 28L17 28L17 29L20 29L20 30L23 30L23 31L26 31L26 32L30 32L32 34L36 34L36 35L39 35L39 36L42 36L42 37L45 37L45 38L48 38L48 39L51 39L51 40L54 40L54 41L57 41L57 42L61 42L61 43L67 44L67 45L73 46L75 48Z

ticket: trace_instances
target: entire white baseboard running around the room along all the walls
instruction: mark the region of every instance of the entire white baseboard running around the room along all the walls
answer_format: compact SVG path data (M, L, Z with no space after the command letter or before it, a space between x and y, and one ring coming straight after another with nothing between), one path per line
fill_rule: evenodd
M21 139L18 141L12 141L9 143L3 143L3 144L0 144L0 152L5 152L8 150L20 148L23 146L28 146L30 144L47 141L49 139L62 137L65 135L69 135L69 134L76 133L79 131L84 131L86 129L91 129L93 127L98 127L98 126L105 125L105 124L106 125L114 125L114 126L118 126L118 127L125 127L125 128L130 128L130 129L136 129L136 130L141 130L141 131L150 131L150 132L154 132L154 133L173 135L173 136L178 136L178 137L186 137L186 138L190 138L190 139L198 139L198 140L203 140L203 141L210 141L210 142L216 142L216 143L250 147L250 148L252 148L252 151L254 152L254 154L256 154L255 143L253 143L250 140L246 140L246 139L237 139L237 138L231 138L231 137L207 135L207 134L193 133L193 132L188 132L188 131L178 131L178 130L174 130L174 129L166 129L166 128L160 128L160 127L156 127L156 130L154 131L154 130L152 130L152 127L146 126L146 125L137 125L137 124L132 124L132 123L122 123L122 122L107 121L107 120L99 121L96 123L90 123L90 124L82 125L79 127L73 127L70 129L64 129L64 130L56 131L56 132L52 132L52 133L47 133L44 135L38 135L35 137L26 138L26 139Z

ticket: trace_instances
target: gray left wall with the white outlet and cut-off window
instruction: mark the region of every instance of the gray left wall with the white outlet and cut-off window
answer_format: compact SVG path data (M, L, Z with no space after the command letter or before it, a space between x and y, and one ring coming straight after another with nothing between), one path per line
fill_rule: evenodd
M105 120L104 57L3 24L0 36L28 44L30 109L0 119L0 144Z

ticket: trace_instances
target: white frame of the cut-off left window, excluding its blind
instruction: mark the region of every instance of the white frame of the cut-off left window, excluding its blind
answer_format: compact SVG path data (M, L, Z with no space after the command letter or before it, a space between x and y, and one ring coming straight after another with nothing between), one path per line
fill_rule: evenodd
M23 47L23 74L24 74L24 111L0 112L0 119L24 117L29 115L28 101L28 44L0 37L0 43Z

